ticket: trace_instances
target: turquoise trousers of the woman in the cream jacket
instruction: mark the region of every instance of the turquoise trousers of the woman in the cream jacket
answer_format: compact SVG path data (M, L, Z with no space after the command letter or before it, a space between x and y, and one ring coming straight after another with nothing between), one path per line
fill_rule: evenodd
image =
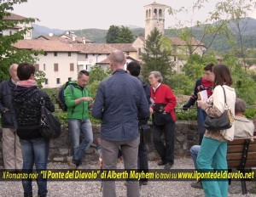
M213 169L227 171L227 142L204 137L201 149L197 156L197 167L199 171L213 172ZM213 166L213 167L212 167ZM207 197L227 197L229 190L228 179L207 180L201 183Z

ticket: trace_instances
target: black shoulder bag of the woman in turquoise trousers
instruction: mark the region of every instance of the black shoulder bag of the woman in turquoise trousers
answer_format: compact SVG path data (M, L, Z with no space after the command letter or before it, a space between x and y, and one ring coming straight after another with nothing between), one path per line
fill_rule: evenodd
M222 115L220 115L219 117L210 117L209 115L207 115L204 127L208 130L208 131L220 131L220 130L225 130L225 129L229 129L230 127L232 127L232 123L234 122L234 116L232 115L232 112L227 104L227 100L226 100L226 93L224 90L224 103L225 103L225 109ZM214 101L213 101L214 102Z

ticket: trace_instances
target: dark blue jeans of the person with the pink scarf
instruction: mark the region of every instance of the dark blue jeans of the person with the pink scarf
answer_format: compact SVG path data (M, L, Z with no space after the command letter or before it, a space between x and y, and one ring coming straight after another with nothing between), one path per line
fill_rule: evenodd
M47 194L47 179L40 174L47 169L49 140L44 138L20 139L24 173L31 173L35 164L38 172L38 194ZM32 194L32 179L22 179L24 194Z

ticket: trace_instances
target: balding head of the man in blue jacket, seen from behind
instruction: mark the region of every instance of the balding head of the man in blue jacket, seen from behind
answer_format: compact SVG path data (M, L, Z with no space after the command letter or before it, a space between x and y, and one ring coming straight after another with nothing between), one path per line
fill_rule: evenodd
M125 54L120 50L114 50L108 56L110 61L110 67L112 70L124 69L124 65L126 62Z

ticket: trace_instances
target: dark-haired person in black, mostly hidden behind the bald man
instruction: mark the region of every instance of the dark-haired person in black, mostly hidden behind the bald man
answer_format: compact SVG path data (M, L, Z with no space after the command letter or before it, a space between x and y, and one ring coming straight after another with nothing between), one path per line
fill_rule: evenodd
M128 74L131 76L136 76L142 83L143 83L143 89L144 93L146 94L146 97L148 99L148 109L150 107L150 86L143 82L141 78L138 76L140 75L141 72L141 65L137 64L137 62L130 62L127 65L126 68ZM138 125L139 125L139 130L141 132L141 141L138 147L138 158L137 158L137 169L139 172L148 172L148 147L145 142L143 142L143 126L148 125L148 119L149 117L143 117L143 115L140 115L140 112L138 113ZM147 185L148 184L148 179L147 178L142 178L140 180L140 185Z

